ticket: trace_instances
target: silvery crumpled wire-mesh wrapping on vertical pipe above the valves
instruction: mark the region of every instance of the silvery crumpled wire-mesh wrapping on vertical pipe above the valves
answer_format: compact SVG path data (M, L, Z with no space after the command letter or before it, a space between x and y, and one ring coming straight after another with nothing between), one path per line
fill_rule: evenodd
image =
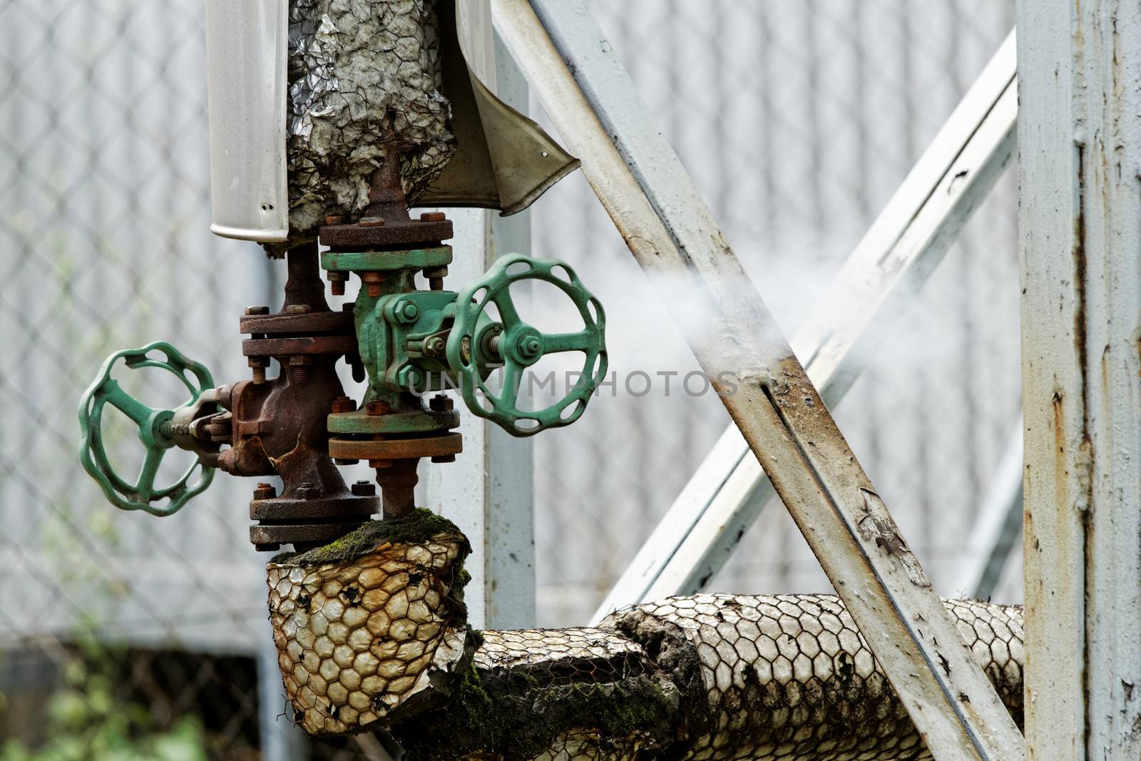
M455 151L434 0L290 0L290 242L355 218L383 159L414 201Z

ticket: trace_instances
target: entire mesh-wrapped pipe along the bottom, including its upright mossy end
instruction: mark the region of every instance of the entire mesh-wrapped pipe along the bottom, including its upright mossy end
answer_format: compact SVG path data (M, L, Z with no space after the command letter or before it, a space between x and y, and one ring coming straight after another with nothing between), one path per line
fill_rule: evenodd
M306 730L383 728L411 761L930 758L835 596L677 597L597 629L476 632L468 550L416 510L268 565ZM1021 609L946 606L1021 723Z

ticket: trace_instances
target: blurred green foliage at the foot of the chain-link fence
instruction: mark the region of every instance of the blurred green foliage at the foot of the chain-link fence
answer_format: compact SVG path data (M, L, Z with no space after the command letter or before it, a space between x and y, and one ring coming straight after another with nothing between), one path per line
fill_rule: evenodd
M48 701L47 743L30 748L9 738L0 761L207 761L197 718L155 728L145 706L116 698L100 648L88 642L83 649L87 657L66 665L66 686Z

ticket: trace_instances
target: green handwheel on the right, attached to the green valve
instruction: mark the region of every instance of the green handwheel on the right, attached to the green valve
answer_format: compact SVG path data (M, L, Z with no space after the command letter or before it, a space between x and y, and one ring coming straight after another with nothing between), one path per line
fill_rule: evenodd
M511 299L512 283L540 280L566 293L584 326L574 333L543 333L523 322ZM486 314L494 303L495 322ZM568 426L582 415L590 396L606 377L606 315L574 270L558 259L532 259L519 253L495 261L484 276L469 284L455 301L455 322L447 340L448 365L472 413L493 420L515 436L532 436L548 428ZM524 372L549 354L581 351L580 380L555 404L535 412L516 405ZM485 379L503 367L502 388L495 392Z

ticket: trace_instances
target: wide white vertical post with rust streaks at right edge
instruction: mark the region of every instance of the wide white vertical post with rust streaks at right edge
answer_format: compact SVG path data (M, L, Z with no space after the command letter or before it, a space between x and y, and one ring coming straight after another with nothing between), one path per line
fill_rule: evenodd
M1019 0L1026 735L1141 756L1141 3Z

